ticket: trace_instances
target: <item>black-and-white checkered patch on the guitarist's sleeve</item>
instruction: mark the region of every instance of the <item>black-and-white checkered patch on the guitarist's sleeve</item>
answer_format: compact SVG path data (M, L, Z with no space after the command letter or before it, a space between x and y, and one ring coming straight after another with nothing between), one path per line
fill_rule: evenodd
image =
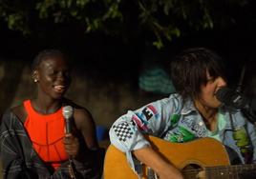
M132 135L134 134L134 132L129 128L129 125L126 122L118 124L117 126L115 125L113 129L119 140L123 142L125 142L127 139L132 138Z

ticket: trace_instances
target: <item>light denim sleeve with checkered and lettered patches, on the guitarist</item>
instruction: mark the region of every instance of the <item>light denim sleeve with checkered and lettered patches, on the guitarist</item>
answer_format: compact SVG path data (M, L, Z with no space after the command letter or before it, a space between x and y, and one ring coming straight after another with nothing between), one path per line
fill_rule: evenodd
M135 169L131 151L150 146L143 134L162 137L171 126L171 114L179 109L177 96L148 104L137 110L129 110L117 119L110 129L111 143L126 153L129 165Z

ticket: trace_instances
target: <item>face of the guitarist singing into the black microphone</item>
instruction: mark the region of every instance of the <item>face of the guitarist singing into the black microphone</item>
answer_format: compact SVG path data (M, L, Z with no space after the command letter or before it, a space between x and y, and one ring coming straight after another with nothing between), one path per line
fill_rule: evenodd
M221 102L216 98L215 94L218 89L226 86L226 82L221 76L213 78L209 75L208 71L206 71L206 78L207 82L201 86L201 94L198 102L200 102L204 107L213 109L219 108L221 106Z

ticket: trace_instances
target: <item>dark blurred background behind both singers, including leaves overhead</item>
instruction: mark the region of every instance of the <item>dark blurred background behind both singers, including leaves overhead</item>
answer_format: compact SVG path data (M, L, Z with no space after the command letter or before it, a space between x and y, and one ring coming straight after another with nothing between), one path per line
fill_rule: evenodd
M253 0L0 0L0 114L32 97L30 64L45 49L70 55L67 97L99 130L174 92L168 64L187 48L222 55L234 89L246 67L245 89L255 79L255 8ZM108 142L106 132L98 140Z

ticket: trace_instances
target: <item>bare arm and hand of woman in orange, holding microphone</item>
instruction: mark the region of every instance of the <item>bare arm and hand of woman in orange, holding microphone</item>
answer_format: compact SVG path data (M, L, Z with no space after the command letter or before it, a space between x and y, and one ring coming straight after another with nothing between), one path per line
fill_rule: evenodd
M100 177L103 169L104 150L99 149L96 140L96 125L91 113L87 109L75 109L75 130L66 134L64 145L67 153L75 159L75 168L80 172L91 168ZM88 164L90 164L88 166ZM79 168L79 167L78 167ZM87 169L88 170L88 169Z

